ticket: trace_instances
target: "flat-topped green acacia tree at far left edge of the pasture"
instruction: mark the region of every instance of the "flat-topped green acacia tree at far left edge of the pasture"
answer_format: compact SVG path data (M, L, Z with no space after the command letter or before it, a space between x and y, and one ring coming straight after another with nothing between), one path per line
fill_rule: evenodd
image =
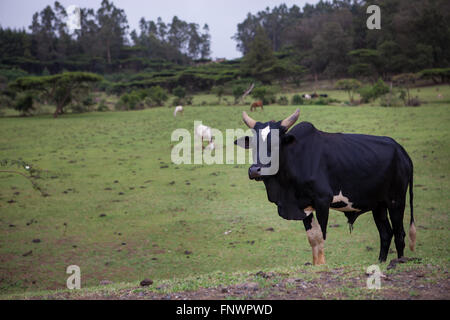
M101 81L102 77L87 72L65 72L53 76L23 77L10 84L13 90L39 92L56 105L53 116L56 118L72 100L72 96L89 89L88 84Z

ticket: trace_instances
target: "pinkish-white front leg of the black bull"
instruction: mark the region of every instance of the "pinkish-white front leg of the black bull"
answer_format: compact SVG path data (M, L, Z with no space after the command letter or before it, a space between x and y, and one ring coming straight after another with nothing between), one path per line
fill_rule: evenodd
M316 221L316 219L314 219L313 210L314 209L311 207L304 209L305 213L308 216L303 220L303 224L305 226L309 244L311 245L313 254L313 264L316 266L325 264L325 252L324 252L325 240L322 234L322 228L320 227L320 224Z

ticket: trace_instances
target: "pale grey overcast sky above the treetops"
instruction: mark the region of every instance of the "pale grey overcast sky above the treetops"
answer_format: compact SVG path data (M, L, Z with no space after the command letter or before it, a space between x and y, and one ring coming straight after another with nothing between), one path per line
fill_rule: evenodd
M82 8L97 9L101 0L59 0L66 8L78 5ZM125 10L130 31L138 29L141 17L155 20L161 17L168 23L174 15L187 22L198 23L201 27L207 23L211 33L213 58L237 58L241 54L236 50L236 42L231 37L236 33L237 24L242 22L248 12L253 14L273 8L282 3L288 7L296 4L303 8L305 3L318 0L113 0L114 4ZM0 0L0 25L2 27L23 28L31 24L36 11L51 5L52 0Z

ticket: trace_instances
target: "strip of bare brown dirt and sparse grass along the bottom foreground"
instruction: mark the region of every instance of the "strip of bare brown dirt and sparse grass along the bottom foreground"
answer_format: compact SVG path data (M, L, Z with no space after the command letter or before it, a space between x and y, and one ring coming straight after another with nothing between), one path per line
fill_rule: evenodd
M311 277L312 276L312 277ZM170 292L170 286L156 281L150 287L99 290L86 294L71 292L32 297L31 299L80 300L449 300L450 281L447 270L420 266L383 275L381 289L367 289L368 275L359 271L332 269L303 272L293 277L280 273L258 272L248 281L229 286Z

